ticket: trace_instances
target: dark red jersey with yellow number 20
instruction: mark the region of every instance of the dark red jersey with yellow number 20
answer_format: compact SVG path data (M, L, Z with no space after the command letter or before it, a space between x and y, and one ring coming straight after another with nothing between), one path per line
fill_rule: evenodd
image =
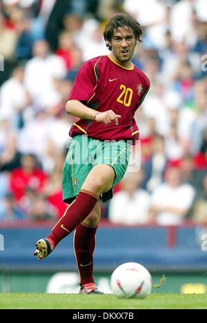
M150 88L148 77L134 66L124 68L109 56L96 57L83 63L68 100L82 101L99 112L113 110L121 115L119 125L108 126L95 120L79 119L70 129L70 136L85 134L99 140L133 140L139 138L134 119Z

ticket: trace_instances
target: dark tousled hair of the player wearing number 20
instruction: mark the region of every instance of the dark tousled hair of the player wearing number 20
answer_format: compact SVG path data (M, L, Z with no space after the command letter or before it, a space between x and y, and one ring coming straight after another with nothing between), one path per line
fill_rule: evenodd
M130 28L134 32L135 38L138 39L138 41L141 41L141 26L135 20L135 18L133 18L129 14L116 14L108 21L103 32L103 37L109 50L112 50L112 48L109 45L108 41L111 41L114 30L117 31L120 27Z

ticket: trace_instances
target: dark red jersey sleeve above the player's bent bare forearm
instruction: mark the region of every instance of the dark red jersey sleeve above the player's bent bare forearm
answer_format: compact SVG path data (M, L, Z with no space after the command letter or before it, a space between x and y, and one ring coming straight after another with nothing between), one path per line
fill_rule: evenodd
M95 88L97 87L97 77L95 74L95 66L92 61L86 61L81 66L68 100L90 101L95 95Z

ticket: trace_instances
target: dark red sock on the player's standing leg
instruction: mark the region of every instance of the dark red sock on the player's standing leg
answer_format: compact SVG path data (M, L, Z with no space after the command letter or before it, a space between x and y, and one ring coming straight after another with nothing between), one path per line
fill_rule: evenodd
M93 252L95 250L95 235L97 228L88 228L79 224L74 235L74 248L77 266L80 274L80 286L94 283L93 271Z

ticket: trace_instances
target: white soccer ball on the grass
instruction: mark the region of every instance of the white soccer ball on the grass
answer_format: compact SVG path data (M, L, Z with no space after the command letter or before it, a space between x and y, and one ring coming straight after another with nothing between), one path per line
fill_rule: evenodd
M117 297L145 298L151 293L152 277L141 264L126 262L112 273L110 287Z

